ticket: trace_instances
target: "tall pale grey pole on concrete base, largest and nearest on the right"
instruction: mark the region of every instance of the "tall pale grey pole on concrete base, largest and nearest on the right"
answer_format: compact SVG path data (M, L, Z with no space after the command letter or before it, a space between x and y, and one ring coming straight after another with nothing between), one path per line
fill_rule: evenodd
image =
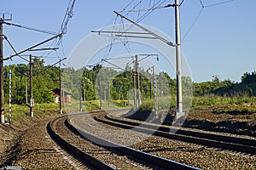
M176 80L177 80L177 115L176 119L184 116L181 77L181 42L179 26L179 2L175 0L175 32L176 32Z

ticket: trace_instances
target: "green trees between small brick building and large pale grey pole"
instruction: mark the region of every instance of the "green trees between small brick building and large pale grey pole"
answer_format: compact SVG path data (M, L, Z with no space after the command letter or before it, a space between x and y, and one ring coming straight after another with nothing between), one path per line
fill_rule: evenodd
M76 75L73 77L72 75ZM80 76L78 76L80 75ZM155 75L158 88L158 95L164 96L176 93L176 81L165 72ZM131 67L126 67L125 71L116 71L111 68L95 65L93 68L82 68L74 71L71 68L63 71L64 87L73 93L74 99L79 99L80 94L84 99L119 99L127 100L133 98L133 89L137 88L137 77L132 72ZM79 88L81 87L81 88ZM139 87L142 99L153 98L154 78L152 73L141 70L139 73ZM172 88L170 88L172 87Z

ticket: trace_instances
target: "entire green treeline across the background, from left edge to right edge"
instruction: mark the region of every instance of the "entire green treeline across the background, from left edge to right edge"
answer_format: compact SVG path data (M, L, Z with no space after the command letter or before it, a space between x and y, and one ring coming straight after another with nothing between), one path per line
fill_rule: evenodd
M33 97L36 103L54 101L53 90L59 88L60 72L58 66L44 65L44 59L33 59ZM26 89L29 99L29 67L30 65L6 65L4 72L12 71L12 103L26 103ZM135 76L135 77L134 77ZM81 97L92 99L132 99L136 74L127 66L125 71L116 71L95 65L92 68L62 68L62 88L72 93L73 99ZM157 95L176 95L176 79L166 72L159 72L153 77L152 72L140 70L140 91L142 99L154 98L154 82ZM136 85L136 84L135 84ZM27 88L26 88L27 87ZM256 95L256 72L244 73L241 82L221 81L217 76L209 82L192 82L190 77L183 77L183 94L192 93L195 96L215 94L220 96ZM4 77L4 100L9 101L9 78Z

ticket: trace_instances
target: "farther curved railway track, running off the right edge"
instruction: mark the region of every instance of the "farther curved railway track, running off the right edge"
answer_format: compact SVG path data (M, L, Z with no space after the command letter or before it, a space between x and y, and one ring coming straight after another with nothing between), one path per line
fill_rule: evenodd
M203 144L209 147L223 150L234 150L245 154L256 155L256 140L225 136L214 133L202 133L183 129L172 129L166 126L155 125L124 119L109 114L98 114L94 116L98 122L106 123L114 127L136 130L141 133L154 134L167 139L177 139L194 144ZM170 133L176 131L176 133Z

